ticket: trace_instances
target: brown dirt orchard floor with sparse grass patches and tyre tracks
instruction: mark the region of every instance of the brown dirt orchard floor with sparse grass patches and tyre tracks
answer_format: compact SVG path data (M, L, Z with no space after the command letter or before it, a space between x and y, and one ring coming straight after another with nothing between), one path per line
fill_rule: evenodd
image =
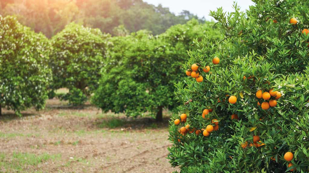
M172 172L164 122L47 100L23 117L2 109L0 172Z

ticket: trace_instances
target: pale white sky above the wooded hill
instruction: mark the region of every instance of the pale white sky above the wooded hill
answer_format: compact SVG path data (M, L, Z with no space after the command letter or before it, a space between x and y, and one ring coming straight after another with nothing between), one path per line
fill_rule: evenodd
M224 11L233 11L233 0L144 0L149 4L162 4L163 7L170 8L171 12L179 14L182 10L188 10L199 17L205 16L207 20L213 19L209 16L210 10L216 10L218 7ZM251 0L235 0L241 10L247 10L254 3Z

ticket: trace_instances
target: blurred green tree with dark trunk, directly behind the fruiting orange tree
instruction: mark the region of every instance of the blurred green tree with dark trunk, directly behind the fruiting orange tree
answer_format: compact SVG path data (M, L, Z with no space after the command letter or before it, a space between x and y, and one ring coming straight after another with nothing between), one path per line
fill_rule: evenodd
M149 112L162 120L163 108L172 109L174 83L184 79L182 64L193 38L201 39L213 23L192 20L171 27L158 36L141 30L125 37L113 37L111 56L99 81L92 103L103 111L125 112L128 116ZM215 36L218 38L218 36Z

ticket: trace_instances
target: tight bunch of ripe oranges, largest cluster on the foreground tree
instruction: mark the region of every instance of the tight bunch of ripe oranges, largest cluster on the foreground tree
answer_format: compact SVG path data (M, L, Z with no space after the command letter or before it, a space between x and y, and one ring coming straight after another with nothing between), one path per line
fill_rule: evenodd
M277 106L277 100L280 99L281 93L278 91L273 91L273 89L269 90L269 92L263 92L262 90L256 91L256 97L258 99L264 99L265 101L261 104L257 101L257 105L261 106L262 109L268 110L269 107ZM273 97L273 99L271 99Z

